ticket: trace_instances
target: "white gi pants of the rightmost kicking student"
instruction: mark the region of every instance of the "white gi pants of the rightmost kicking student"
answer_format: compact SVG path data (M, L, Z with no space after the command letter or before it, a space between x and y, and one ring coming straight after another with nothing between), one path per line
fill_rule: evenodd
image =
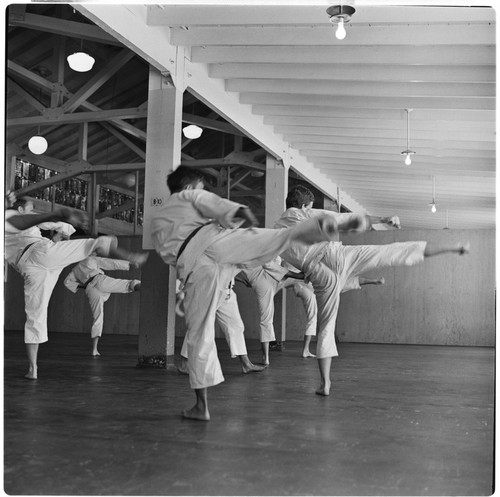
M338 356L335 322L342 289L353 277L389 266L413 266L424 260L427 242L402 242L388 245L342 245L330 243L323 258L307 277L318 302L318 359Z

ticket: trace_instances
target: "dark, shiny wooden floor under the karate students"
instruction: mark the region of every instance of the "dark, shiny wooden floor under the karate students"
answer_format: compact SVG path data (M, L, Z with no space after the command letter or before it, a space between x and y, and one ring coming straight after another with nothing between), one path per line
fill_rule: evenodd
M224 343L212 421L174 370L138 369L137 337L52 333L39 379L5 334L10 495L490 495L494 350L341 344L330 397L300 343L243 375ZM258 343L249 355L257 362Z

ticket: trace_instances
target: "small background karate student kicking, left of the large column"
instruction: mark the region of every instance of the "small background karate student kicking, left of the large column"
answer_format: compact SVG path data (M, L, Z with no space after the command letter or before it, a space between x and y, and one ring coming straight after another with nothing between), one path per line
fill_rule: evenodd
M92 356L101 354L97 344L102 336L104 325L104 303L109 300L112 293L132 293L141 289L140 280L125 280L111 278L104 271L129 271L131 267L139 267L137 263L107 257L87 257L79 262L64 280L64 286L76 293L83 289L92 311Z

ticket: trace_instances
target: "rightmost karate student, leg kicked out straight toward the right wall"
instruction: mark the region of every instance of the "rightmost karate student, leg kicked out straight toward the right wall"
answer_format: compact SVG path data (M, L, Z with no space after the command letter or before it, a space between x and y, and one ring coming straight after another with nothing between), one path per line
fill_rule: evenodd
M314 195L308 188L303 186L293 188L286 199L287 210L276 222L275 227L292 227L316 216L329 216L342 223L353 216L353 214L313 209L313 202ZM364 216L364 219L368 226L371 223L388 223L399 228L397 217ZM316 393L330 394L332 357L338 356L335 344L335 321L340 293L350 278L382 267L412 266L438 254L463 255L469 253L469 249L468 243L447 245L417 241L388 245L345 246L341 242L323 242L313 246L296 243L281 253L286 262L302 271L311 281L318 301L319 331L316 356L320 386Z

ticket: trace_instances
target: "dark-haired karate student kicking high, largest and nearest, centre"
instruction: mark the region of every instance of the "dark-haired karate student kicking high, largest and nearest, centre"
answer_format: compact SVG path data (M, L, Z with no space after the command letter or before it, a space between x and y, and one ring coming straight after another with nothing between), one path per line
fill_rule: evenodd
M350 218L340 225L327 216L291 229L254 229L257 220L242 204L205 191L202 176L190 167L170 173L171 195L151 223L156 252L175 265L184 285L189 382L196 403L183 416L208 421L208 387L224 381L215 346L215 316L236 273L269 262L293 242L311 244L331 240L338 229L364 226ZM250 229L241 229L242 224Z

